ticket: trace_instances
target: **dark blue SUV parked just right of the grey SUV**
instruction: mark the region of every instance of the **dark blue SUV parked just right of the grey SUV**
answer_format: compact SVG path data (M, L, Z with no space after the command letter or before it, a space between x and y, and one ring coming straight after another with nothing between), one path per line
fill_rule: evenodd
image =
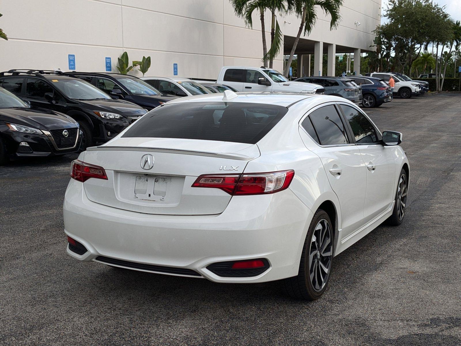
M362 87L362 106L365 108L379 107L384 102L392 101L392 90L384 79L348 76L346 77Z

